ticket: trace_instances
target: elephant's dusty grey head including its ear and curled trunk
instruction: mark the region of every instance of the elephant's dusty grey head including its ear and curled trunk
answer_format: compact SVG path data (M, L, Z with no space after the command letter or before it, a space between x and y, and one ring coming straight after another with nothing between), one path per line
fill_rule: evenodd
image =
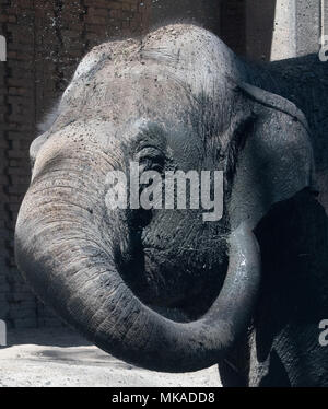
M31 147L15 232L36 294L115 357L151 370L218 362L247 329L260 281L253 230L311 186L303 114L191 25L94 48ZM223 172L223 217L112 209L110 172ZM147 186L140 187L140 192Z

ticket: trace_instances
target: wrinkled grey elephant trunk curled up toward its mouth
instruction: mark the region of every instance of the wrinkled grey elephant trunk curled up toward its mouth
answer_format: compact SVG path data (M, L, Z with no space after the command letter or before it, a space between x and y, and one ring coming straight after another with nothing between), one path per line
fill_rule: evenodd
M230 237L224 285L199 320L176 323L152 311L124 282L115 254L119 217L105 207L113 160L96 145L47 142L35 163L15 237L19 268L36 294L89 340L155 371L196 371L216 363L247 328L260 258L246 225ZM183 267L181 267L183 268Z

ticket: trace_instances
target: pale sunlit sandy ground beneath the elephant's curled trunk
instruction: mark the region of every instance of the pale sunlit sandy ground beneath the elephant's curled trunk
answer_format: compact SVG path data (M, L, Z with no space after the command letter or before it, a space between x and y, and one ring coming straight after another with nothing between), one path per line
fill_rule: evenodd
M62 328L9 332L0 347L0 386L208 387L220 386L218 367L187 374L129 365Z

